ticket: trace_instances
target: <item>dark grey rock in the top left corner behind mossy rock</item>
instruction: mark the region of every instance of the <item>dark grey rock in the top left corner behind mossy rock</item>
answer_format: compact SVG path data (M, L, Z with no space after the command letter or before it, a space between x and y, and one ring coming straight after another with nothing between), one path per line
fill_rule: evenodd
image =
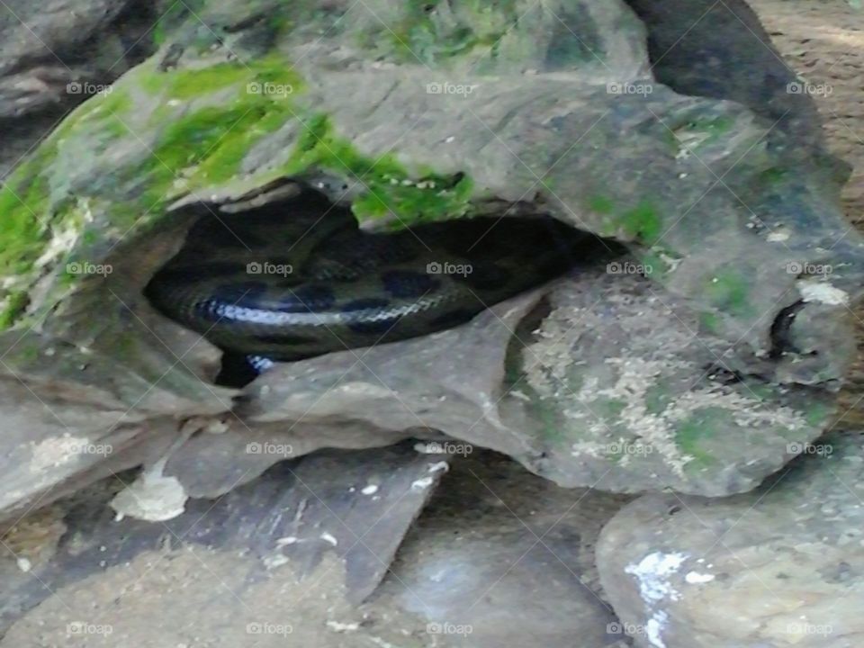
M4 3L0 177L74 106L94 94L110 93L112 81L152 53L150 31L158 17L149 3L128 0Z

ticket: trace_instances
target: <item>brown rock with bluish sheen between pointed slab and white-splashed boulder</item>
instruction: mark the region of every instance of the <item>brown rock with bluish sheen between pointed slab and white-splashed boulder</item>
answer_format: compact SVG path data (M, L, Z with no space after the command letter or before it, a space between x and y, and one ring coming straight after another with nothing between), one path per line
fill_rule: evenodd
M621 645L594 545L627 500L558 488L477 451L456 458L375 602L424 619L444 645Z

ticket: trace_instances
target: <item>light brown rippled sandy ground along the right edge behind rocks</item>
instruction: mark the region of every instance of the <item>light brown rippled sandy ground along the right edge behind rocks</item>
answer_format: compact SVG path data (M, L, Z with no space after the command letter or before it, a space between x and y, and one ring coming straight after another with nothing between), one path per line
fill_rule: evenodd
M751 0L789 67L824 87L815 101L828 147L852 166L843 191L849 219L864 231L864 11L845 0ZM836 425L864 425L864 306L855 311L859 354L841 394Z

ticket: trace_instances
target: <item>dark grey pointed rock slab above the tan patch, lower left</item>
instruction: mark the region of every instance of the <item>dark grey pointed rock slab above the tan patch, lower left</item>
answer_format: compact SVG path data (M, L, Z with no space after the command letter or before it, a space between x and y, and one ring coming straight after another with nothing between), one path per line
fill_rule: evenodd
M225 560L245 556L239 562L255 578L279 583L317 581L327 572L322 561L336 556L344 565L338 577L340 596L357 605L383 579L447 464L446 457L422 455L410 445L320 453L284 462L220 500L190 500L185 510L181 506L175 516L160 518L159 524L115 516L109 509L108 502L118 491L130 492L121 489L132 482L132 475L121 473L58 501L46 509L54 512L53 517L33 517L41 520L39 524L25 518L4 537L12 554L4 561L14 564L28 558L34 564L30 573L4 569L3 629L52 591L72 587L107 568L122 572L124 564L160 546L178 553L212 550ZM374 492L370 485L376 487ZM166 493L167 505L175 506L174 496L173 490ZM59 539L53 530L58 526ZM45 538L50 540L49 551L40 549ZM280 568L283 571L272 573ZM234 594L224 593L236 602ZM120 623L116 617L89 617L89 622ZM117 641L116 636L113 639Z

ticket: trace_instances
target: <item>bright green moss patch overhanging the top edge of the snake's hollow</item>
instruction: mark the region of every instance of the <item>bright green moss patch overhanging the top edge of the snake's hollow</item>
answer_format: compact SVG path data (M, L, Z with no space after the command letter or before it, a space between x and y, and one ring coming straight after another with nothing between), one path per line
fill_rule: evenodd
M399 225L446 220L470 210L473 181L468 175L440 175L431 168L409 171L393 155L374 159L356 151L338 136L329 117L319 114L305 124L284 175L302 175L310 168L329 171L364 184L365 193L352 203L358 220L395 214Z

